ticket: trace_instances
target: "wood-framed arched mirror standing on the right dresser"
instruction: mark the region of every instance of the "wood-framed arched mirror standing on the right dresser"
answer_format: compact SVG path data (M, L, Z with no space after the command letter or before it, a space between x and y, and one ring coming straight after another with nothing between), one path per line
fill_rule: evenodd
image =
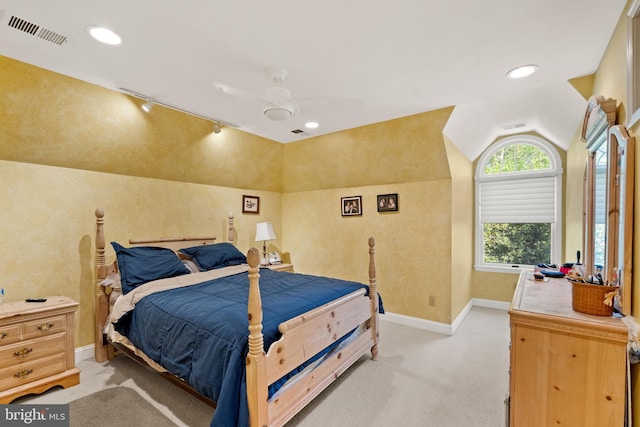
M615 123L615 100L589 100L582 136L589 151L584 181L584 267L619 285L615 308L631 313L635 138ZM625 286L626 285L626 286Z

